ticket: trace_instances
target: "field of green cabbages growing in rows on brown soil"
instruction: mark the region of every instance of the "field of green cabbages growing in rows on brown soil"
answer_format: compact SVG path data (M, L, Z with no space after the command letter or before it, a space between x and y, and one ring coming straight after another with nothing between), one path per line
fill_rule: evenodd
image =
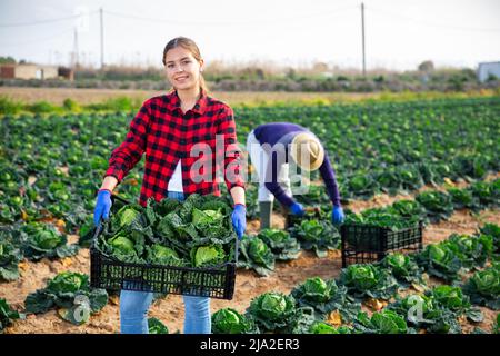
M90 288L89 246L97 189L133 115L0 118L0 333L119 333L118 294ZM242 147L263 122L310 128L336 168L346 224L397 231L421 221L423 248L342 268L340 230L318 176L298 200L320 212L287 228L276 204L273 228L262 231L257 186L248 184L234 297L211 300L213 333L499 333L500 98L240 106L234 115ZM138 200L142 170L143 160L117 187L120 197ZM170 231L168 214L181 211L191 237L202 226L212 239L229 234L220 243L229 244L224 199L193 198L189 219L167 204L117 210L116 221L134 225L139 237L130 245L110 233L100 246L139 263L203 266L202 254L176 239L172 250L154 245L153 231ZM156 295L151 333L182 333L182 320L180 296Z

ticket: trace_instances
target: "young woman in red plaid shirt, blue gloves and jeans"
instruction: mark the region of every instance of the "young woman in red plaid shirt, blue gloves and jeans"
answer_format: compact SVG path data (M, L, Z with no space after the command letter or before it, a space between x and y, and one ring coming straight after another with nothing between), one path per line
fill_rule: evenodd
M219 195L216 171L222 171L234 202L232 225L241 238L247 224L244 185L232 109L207 96L203 59L191 39L179 37L169 41L163 50L163 65L173 90L147 100L130 123L126 140L113 150L98 192L94 222L108 218L112 190L146 152L141 205L146 206L150 197L183 200L194 192ZM200 147L209 154L208 159L203 155L203 162L210 164L201 175L200 158L196 154ZM222 159L218 159L221 156ZM148 333L147 313L151 300L152 293L121 291L122 333ZM209 334L210 299L183 296L183 301L184 333Z

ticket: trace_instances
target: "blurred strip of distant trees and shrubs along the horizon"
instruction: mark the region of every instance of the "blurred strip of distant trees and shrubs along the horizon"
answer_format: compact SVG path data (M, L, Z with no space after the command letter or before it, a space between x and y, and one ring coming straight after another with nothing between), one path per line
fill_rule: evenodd
M0 63L16 63L12 57L0 57ZM362 77L359 70L331 68L317 62L308 68L279 68L269 63L224 65L213 61L204 78L214 91L463 91L500 87L498 78L479 83L471 68L434 68L430 60L416 70L371 70ZM0 86L64 87L103 89L166 90L170 85L163 69L108 66L102 70L79 68L74 81L0 80Z

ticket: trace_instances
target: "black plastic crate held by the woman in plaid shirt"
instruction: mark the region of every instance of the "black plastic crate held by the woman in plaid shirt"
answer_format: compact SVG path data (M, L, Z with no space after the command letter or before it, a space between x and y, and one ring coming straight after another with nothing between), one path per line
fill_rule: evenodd
M96 229L90 247L90 286L107 290L137 290L161 294L232 299L234 294L238 239L234 260L212 268L123 263L99 251L94 243L102 224Z

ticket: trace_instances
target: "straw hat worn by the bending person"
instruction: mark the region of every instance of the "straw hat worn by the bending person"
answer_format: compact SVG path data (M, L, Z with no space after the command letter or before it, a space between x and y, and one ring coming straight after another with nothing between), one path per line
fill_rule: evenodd
M323 145L314 135L300 132L291 141L290 156L301 169L313 171L323 164Z

